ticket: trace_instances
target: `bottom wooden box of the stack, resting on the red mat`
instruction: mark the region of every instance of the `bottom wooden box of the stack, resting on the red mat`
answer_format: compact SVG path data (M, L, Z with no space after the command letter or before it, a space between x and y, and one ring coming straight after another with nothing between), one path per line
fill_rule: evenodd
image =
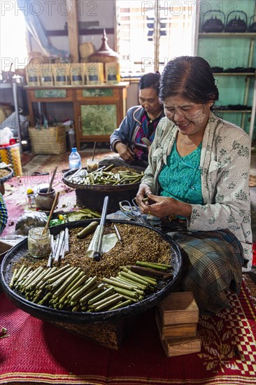
M199 335L185 338L161 339L167 357L183 356L183 354L199 353L201 338Z

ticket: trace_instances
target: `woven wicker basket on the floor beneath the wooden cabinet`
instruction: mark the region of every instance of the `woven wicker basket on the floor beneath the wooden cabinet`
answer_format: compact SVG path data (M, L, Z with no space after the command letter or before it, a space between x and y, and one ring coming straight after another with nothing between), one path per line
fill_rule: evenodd
M37 129L29 127L31 149L35 154L59 155L66 152L66 129L64 126Z

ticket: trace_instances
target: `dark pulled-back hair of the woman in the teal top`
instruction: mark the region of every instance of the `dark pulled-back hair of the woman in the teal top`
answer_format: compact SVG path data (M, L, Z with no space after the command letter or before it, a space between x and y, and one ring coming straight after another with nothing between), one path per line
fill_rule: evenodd
M180 95L194 103L219 99L211 66L199 56L180 56L164 67L159 85L159 99Z

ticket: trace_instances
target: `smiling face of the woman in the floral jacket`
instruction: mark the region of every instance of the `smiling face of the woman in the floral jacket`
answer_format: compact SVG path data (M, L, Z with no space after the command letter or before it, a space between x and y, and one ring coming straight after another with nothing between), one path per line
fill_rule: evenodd
M208 123L212 102L199 104L180 96L166 97L164 113L177 127L181 134L203 133Z

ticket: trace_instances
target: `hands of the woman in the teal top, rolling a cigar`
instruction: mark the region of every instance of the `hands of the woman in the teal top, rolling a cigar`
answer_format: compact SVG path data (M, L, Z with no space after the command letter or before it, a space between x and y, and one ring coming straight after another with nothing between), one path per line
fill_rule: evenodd
M148 201L143 202L145 197L148 197ZM136 202L142 214L150 214L157 218L163 218L169 215L190 218L192 211L192 207L188 203L180 202L171 197L153 195L150 188L145 184L140 186L136 195Z

